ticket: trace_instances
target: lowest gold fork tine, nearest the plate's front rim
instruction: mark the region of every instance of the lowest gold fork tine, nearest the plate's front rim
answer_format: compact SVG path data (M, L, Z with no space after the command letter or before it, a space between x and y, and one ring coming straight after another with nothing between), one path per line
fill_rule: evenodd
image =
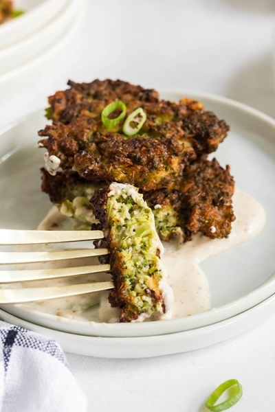
M59 297L85 295L113 288L113 282L94 282L90 284L56 286L45 288L0 289L0 304L23 304Z

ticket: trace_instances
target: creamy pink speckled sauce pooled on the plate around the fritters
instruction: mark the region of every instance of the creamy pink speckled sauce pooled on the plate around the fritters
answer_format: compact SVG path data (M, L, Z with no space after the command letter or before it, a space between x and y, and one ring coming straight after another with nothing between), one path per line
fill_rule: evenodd
M247 242L263 229L265 225L263 207L238 189L234 194L234 212L236 220L232 224L230 236L226 239L211 240L197 235L191 242L184 244L164 243L162 262L168 273L168 284L174 292L173 306L168 314L164 315L164 319L184 317L210 309L211 291L206 274L203 273L199 264L213 255ZM41 222L39 229L66 229L68 220L65 219L56 209L53 209ZM81 264L87 264L87 262L82 260ZM89 264L92 264L91 259ZM47 268L50 265L52 264L44 264ZM56 267L56 263L54 265ZM69 266L72 262L59 263L58 267L61 265ZM51 286L109 279L108 273L93 274L71 279L56 279L51 281ZM35 282L32 286L45 286L45 284L47 281ZM107 296L107 292L94 293L93 295L36 302L26 306L70 319L113 323L118 321L119 313L117 309L111 308Z

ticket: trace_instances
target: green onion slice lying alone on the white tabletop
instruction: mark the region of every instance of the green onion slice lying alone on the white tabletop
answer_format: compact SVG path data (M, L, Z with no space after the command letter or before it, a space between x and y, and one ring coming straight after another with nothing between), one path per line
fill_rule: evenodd
M220 404L215 405L223 392L225 392L226 389L229 389L230 387L233 387L230 391L230 398L228 398L224 402L221 402ZM234 404L236 404L236 402L241 399L242 395L243 389L238 380L226 380L226 382L223 382L221 385L219 385L219 387L217 387L217 389L214 390L214 392L211 393L208 400L206 401L206 408L208 408L212 412L225 411L225 409L231 408Z

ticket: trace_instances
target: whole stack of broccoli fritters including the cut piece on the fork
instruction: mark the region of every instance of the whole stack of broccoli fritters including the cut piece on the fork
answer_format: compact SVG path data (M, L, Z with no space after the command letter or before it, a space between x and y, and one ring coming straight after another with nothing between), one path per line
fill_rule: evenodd
M120 80L68 84L49 98L52 124L39 132L47 149L42 190L82 222L78 228L104 230L115 286L109 302L120 307L120 321L164 314L170 292L157 233L183 241L230 233L234 181L229 166L208 160L228 125L200 102L159 100L157 91ZM102 111L117 100L104 122ZM129 135L124 122L137 109L143 122L134 117L137 132Z

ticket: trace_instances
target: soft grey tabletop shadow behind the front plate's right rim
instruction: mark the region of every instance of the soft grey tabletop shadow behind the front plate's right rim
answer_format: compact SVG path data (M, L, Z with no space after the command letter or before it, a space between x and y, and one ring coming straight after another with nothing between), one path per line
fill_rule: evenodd
M275 68L272 56L252 62L228 87L228 98L238 100L275 117Z

